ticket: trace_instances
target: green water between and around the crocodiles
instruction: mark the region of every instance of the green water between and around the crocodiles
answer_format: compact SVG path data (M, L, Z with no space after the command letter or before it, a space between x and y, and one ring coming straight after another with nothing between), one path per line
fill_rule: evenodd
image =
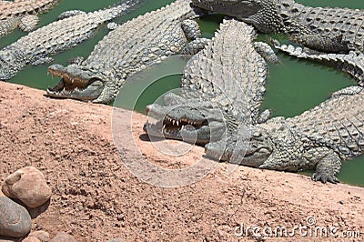
M56 16L66 10L81 9L84 11L94 11L117 3L116 0L105 1L73 1L63 0L53 10L42 15L40 25L46 25L54 20ZM157 9L162 5L167 5L172 0L148 0L146 5L135 12L120 17L116 22L123 22L142 15L148 11ZM348 6L350 8L363 8L362 0L301 0L302 4L312 6ZM213 36L221 21L221 15L208 15L199 20L204 36ZM67 61L81 55L89 55L97 42L108 33L105 26L101 26L96 35L78 45L76 48L54 56L56 63L67 65ZM20 31L15 31L11 35L0 38L0 48L15 42L20 36L25 35ZM269 66L269 77L267 85L267 95L262 106L272 111L273 116L296 116L303 111L317 106L324 101L329 95L345 86L354 85L349 76L339 73L332 68L319 66L306 61L291 59L285 55L279 55L281 64ZM180 73L186 60L171 58L166 63L149 68L146 72L139 74L133 82L126 83L122 91L121 98L118 99L117 106L126 108L136 108L137 111L144 112L145 106L152 103L158 96L167 90L179 86ZM162 78L158 78L163 76ZM157 80L157 82L155 82ZM32 86L39 89L46 89L48 86L55 86L58 80L46 76L46 66L27 66L23 71L18 73L12 80L12 83ZM146 86L147 89L146 89ZM138 101L135 101L139 94L142 94ZM121 101L121 102L120 102ZM120 103L119 103L120 102ZM364 157L358 157L354 160L344 162L339 179L345 183L354 184L364 187Z

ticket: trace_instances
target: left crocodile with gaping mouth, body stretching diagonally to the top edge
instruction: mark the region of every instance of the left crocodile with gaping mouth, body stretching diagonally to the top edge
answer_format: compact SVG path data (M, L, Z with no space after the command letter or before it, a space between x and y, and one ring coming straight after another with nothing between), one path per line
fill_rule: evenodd
M196 54L208 43L195 18L203 11L189 0L139 15L106 35L92 53L77 63L48 67L59 83L47 95L107 104L124 86L126 78L166 60L170 55Z

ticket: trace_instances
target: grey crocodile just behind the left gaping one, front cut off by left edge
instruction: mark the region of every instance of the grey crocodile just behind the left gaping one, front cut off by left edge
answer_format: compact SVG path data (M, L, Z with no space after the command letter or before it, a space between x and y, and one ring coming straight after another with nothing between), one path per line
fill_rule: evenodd
M24 66L52 62L51 55L87 40L101 24L130 12L142 2L129 0L92 13L68 11L62 14L63 19L38 28L0 50L0 80L11 79Z

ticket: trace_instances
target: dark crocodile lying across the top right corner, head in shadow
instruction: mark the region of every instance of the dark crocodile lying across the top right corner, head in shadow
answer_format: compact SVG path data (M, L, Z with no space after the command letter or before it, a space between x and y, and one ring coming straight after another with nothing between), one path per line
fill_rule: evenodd
M327 53L364 51L364 11L310 7L294 0L193 0L197 7L231 15L263 33L282 33Z

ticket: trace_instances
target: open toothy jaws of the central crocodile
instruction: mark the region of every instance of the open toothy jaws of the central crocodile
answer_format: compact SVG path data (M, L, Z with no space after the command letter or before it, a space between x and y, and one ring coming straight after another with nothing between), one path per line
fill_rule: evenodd
M143 129L148 136L156 136L168 139L183 140L187 143L204 146L209 142L210 128L206 118L188 119L187 116L167 115L167 112L155 112L158 105L150 105L146 108L147 115L156 116L157 122L147 123ZM166 110L166 109L163 109ZM173 113L173 112L172 112Z

